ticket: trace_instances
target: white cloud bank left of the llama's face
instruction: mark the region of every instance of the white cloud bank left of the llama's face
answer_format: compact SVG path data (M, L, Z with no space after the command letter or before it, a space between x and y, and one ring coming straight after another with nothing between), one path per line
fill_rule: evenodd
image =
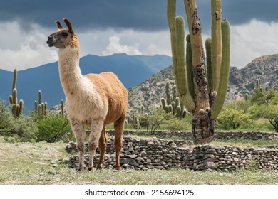
M46 45L46 29L31 25L27 33L16 21L1 23L0 63L4 70L24 70L57 60L58 55Z

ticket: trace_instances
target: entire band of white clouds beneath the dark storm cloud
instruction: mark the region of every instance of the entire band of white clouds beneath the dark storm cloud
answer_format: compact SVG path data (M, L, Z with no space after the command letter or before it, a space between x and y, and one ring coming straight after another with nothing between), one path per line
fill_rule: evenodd
M0 25L0 68L12 71L24 70L58 60L56 48L46 45L46 37L56 31L38 24L30 24L29 31L17 21ZM171 56L170 32L138 31L133 29L108 30L93 29L81 31L75 28L81 43L81 56L87 54L110 55L127 53L128 55ZM186 30L188 33L188 30ZM230 64L242 68L262 55L278 53L278 23L252 20L242 25L230 26L231 59ZM207 38L203 33L203 41Z

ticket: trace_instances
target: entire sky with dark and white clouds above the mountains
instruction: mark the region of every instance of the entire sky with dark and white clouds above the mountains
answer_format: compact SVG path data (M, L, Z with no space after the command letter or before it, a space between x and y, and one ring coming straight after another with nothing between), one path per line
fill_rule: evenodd
M0 69L25 70L58 60L46 45L68 18L81 43L81 56L171 55L167 0L0 0ZM196 0L203 41L210 36L210 1ZM230 65L242 68L254 58L278 53L277 0L222 0L230 22ZM182 0L177 15L185 17ZM63 24L63 23L62 23ZM186 28L185 33L188 33Z

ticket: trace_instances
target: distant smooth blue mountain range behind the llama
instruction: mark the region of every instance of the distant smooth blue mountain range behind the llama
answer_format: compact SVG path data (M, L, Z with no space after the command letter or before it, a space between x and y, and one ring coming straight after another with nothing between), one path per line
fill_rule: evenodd
M168 67L171 63L172 58L165 55L86 55L80 59L83 75L112 71L118 75L127 88L144 82L148 77ZM12 80L13 72L0 70L1 99L9 100ZM58 62L19 71L16 88L18 99L24 99L24 112L33 109L34 101L38 100L38 90L43 92L43 102L48 103L48 108L60 104L61 99L65 99L58 75Z

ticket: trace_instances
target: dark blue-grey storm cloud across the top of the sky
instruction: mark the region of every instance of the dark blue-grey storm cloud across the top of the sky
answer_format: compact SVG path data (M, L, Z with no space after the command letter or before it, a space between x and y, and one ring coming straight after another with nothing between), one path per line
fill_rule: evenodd
M4 0L2 0L4 1ZM167 0L10 0L1 2L0 21L30 22L48 28L53 21L70 18L75 28L133 28L155 31L167 29ZM210 1L197 0L202 28L210 28ZM222 16L233 25L247 23L252 18L278 21L277 0L222 0ZM182 0L177 0L177 14L185 16Z

